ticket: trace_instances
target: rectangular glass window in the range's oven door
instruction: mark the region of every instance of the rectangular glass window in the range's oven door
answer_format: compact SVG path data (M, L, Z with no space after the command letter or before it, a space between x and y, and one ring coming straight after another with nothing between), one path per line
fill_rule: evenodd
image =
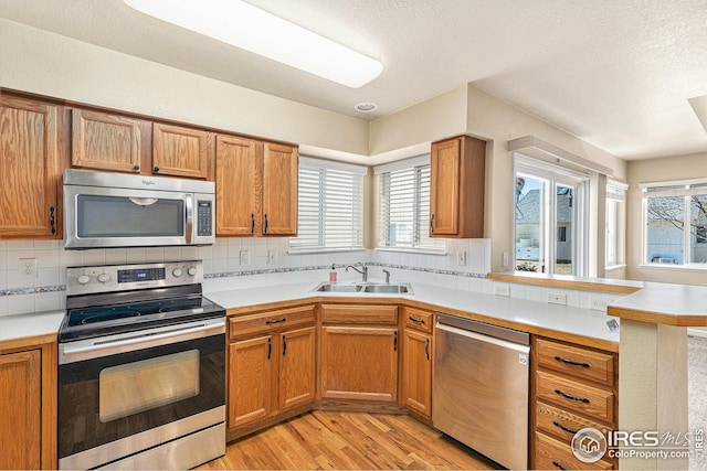
M98 419L105 424L198 394L198 350L112 366L98 378Z

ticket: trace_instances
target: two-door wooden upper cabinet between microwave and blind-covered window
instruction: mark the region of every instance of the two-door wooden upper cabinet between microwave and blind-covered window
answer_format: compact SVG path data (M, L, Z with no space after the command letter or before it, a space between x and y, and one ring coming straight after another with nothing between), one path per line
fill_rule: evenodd
M217 235L297 235L296 146L217 136Z

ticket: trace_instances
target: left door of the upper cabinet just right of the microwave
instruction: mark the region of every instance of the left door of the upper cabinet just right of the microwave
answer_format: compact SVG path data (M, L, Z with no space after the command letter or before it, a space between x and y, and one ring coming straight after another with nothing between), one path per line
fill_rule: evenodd
M217 137L217 235L253 236L261 232L261 143Z

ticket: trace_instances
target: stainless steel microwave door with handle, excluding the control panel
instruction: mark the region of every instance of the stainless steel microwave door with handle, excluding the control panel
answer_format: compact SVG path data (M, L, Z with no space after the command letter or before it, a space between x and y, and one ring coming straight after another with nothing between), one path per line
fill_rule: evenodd
M64 185L66 248L189 245L193 194Z

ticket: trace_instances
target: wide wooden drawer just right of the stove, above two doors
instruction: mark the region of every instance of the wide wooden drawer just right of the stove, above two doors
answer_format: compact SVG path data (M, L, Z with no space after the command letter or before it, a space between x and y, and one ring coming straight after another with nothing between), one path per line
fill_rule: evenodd
M231 339L314 323L314 304L229 318Z

